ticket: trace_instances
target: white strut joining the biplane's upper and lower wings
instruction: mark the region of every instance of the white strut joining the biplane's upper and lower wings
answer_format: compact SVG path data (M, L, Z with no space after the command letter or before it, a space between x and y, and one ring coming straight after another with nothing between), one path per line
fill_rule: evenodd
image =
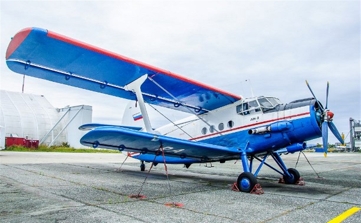
M143 121L145 125L145 130L147 132L155 134L156 132L153 130L151 126L151 122L149 121L147 109L145 108L144 99L142 95L142 91L140 90L140 86L144 83L145 80L147 80L148 74L144 74L143 76L140 76L140 78L130 82L126 86L124 86L124 89L126 91L134 91L136 95L136 99L139 102L140 112L142 112Z

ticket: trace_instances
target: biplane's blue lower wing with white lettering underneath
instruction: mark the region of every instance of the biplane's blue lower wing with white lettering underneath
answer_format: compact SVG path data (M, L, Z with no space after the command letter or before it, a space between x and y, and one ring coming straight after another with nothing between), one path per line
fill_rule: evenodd
M155 154L162 145L165 156L195 159L201 162L239 158L240 154L237 148L158 136L122 127L95 128L85 134L80 139L80 143L95 148L99 146L105 149L119 149L143 154Z

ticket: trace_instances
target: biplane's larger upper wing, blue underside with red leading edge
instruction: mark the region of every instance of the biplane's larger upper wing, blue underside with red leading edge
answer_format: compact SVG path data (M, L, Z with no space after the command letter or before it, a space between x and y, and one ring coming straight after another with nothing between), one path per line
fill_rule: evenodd
M199 114L241 99L178 74L39 28L26 28L14 36L6 51L6 64L17 73L130 100L136 100L134 93L123 87L148 74ZM189 112L149 79L141 90L148 103Z

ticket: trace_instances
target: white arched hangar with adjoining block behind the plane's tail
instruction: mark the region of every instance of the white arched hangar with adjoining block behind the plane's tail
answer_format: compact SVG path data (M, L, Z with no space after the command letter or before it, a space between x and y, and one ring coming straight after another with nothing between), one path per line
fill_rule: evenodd
M84 135L78 130L92 122L92 107L87 105L54 108L43 95L0 90L1 149L5 137L39 140L39 144L68 143L74 148L86 148L79 143Z

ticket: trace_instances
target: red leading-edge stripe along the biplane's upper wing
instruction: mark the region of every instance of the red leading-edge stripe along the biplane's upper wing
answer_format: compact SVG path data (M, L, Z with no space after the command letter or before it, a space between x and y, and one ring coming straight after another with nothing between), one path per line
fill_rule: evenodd
M131 64L134 64L134 65L138 65L138 66L144 67L144 68L146 68L146 69L153 70L153 71L156 71L156 72L158 72L158 73L162 73L162 74L171 76L171 77L173 77L173 78L177 78L177 79L179 79L179 80L183 80L183 81L188 82L188 83L191 83L191 84L195 84L195 85L197 85L197 86L200 86L200 87L203 87L203 88L206 88L206 89L210 89L210 90L212 90L212 91L221 93L221 94L223 94L223 95L227 95L227 96L233 97L234 99L238 99L238 100L242 99L242 97L240 97L240 96L238 96L238 95L234 95L234 94L231 94L231 93L229 93L229 92L222 91L221 89L214 88L214 87L208 86L208 85L206 85L206 84L197 82L197 81L195 81L195 80L186 78L186 77L184 77L184 76L181 76L181 75L172 73L172 72L170 72L170 71L163 70L163 69L160 69L160 68L158 68L158 67L155 67L155 66L152 66L152 65L149 65L149 64L145 64L145 63L143 63L143 62L140 62L140 61L131 59L131 58L129 58L129 57L125 57L125 56L119 55L119 54L117 54L117 53L113 53L113 52L111 52L111 51L107 51L107 50L102 49L102 48L99 48L99 47L95 47L95 46L93 46L93 45L84 43L84 42L82 42L82 41L79 41L79 40L76 40L76 39L72 39L72 38L69 38L69 37L64 36L64 35L61 35L61 34L57 34L56 32L48 31L47 36L48 36L48 37L51 37L51 38L54 38L54 39L57 39L57 40L64 41L65 43L70 43L70 44L76 45L76 46L78 46L78 47L82 47L82 48L84 48L84 49L88 49L88 50L90 50L90 51L94 51L94 52L103 54L103 55L105 55L105 56L113 57L113 58L116 58L116 59L118 59L118 60L122 60L122 61L131 63Z

